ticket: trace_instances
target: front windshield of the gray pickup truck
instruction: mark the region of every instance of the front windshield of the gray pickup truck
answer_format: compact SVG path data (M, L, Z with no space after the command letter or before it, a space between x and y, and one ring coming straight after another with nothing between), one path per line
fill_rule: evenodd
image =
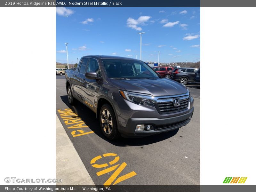
M125 59L102 59L109 78L121 79L159 79L154 70L142 61Z

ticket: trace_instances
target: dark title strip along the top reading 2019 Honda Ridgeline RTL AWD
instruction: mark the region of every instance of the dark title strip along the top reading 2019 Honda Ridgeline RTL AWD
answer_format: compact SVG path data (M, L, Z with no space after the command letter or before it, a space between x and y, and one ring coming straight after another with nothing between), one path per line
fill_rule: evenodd
M255 0L4 0L0 7L255 7Z

